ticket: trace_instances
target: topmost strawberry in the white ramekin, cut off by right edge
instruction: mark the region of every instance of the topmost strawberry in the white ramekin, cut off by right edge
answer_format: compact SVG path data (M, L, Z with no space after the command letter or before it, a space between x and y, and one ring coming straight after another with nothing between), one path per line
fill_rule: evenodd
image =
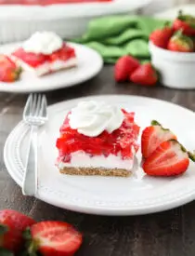
M178 17L173 24L174 31L182 30L183 34L195 35L195 17L191 15L184 15L179 11Z

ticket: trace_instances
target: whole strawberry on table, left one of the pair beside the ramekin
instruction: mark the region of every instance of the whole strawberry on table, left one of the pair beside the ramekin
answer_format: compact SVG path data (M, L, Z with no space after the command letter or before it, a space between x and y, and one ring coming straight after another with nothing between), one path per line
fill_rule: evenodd
M139 61L131 56L123 56L120 58L114 68L114 76L117 82L128 80L129 75L132 74L140 65Z

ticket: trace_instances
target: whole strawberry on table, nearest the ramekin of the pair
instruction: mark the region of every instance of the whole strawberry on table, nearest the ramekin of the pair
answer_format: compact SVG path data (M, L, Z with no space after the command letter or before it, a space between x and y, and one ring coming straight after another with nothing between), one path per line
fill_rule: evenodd
M142 86L154 86L158 81L158 75L150 63L145 63L130 74L130 80Z

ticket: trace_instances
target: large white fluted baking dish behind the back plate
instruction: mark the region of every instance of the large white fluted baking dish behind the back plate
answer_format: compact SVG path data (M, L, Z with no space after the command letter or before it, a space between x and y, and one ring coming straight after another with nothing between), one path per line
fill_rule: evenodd
M128 14L151 0L113 0L108 3L51 6L0 6L0 42L22 41L36 31L49 30L64 39L81 36L90 20L103 15Z

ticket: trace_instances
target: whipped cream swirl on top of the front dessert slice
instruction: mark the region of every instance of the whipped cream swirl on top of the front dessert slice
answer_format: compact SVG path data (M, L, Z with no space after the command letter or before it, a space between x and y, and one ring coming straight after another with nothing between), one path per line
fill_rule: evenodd
M82 101L71 110L70 127L88 137L97 137L104 130L111 133L123 123L123 112L105 102Z

